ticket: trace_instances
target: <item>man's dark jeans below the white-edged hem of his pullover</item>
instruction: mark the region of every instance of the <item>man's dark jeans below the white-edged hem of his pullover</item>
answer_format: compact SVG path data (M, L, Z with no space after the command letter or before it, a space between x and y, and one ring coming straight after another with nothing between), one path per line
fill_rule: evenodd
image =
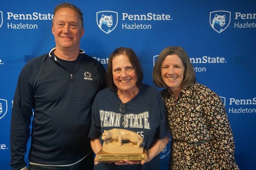
M92 170L94 154L91 152L85 159L71 166L40 166L29 164L29 170Z

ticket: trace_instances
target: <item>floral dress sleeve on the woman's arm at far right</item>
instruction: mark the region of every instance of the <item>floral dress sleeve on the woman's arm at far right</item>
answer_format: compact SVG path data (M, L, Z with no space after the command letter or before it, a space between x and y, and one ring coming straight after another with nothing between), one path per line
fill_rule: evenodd
M218 153L221 169L238 169L234 160L234 137L222 100L208 88L202 94L204 94L201 96L202 109L219 145L216 153Z

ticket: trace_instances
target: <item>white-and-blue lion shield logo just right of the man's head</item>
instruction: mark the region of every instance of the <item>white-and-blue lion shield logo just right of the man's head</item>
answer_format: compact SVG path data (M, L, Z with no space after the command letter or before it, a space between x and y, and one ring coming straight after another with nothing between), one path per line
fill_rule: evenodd
M96 13L98 27L106 34L115 29L118 23L118 13L115 11L99 11Z

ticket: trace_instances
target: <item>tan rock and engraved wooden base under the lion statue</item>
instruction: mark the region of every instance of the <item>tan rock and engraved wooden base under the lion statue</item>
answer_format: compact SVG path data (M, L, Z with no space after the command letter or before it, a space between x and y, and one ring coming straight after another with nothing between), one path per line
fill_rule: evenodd
M131 143L122 143L122 146L117 146L117 142L103 143L102 149L95 156L94 161L129 161L148 160L146 149L135 148Z

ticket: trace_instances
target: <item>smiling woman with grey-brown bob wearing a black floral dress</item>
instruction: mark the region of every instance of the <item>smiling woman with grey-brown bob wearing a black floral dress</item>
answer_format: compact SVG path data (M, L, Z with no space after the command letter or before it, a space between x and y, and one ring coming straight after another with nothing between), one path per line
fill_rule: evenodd
M193 66L181 47L167 47L158 56L153 81L167 108L171 130L169 169L239 169L234 137L219 96L196 83Z

